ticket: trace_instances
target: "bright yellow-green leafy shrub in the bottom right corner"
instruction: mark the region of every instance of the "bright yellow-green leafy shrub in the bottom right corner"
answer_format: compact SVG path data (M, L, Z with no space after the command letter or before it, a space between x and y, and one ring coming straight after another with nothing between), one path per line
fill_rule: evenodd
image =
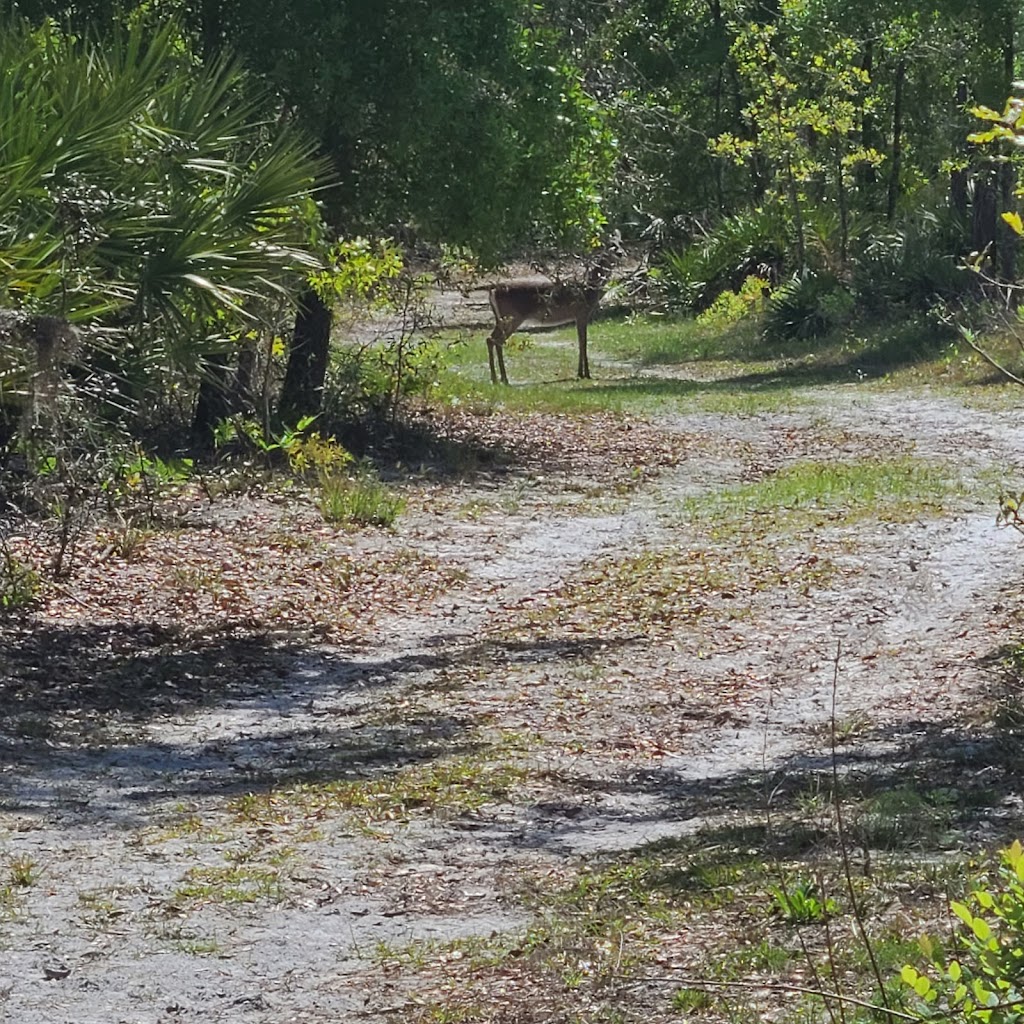
M995 877L950 909L959 921L958 952L946 958L930 939L922 948L927 972L906 965L903 983L923 1020L1016 1024L1024 1018L1024 849L1004 850Z

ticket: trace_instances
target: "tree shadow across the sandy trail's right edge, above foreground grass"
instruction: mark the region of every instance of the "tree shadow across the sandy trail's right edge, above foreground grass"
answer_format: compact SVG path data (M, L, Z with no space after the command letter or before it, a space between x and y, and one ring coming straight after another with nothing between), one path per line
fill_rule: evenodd
M997 683L986 703L1005 694ZM551 781L571 799L553 811L535 809L522 842L560 854L592 853L586 837L596 831L610 841L609 853L629 856L666 844L688 848L697 836L703 846L722 849L736 829L753 827L761 836L758 856L785 858L835 849L842 827L850 846L876 851L1005 845L1024 836L1021 721L998 715L978 724L908 721L865 731L835 753L826 740L767 771L700 778L671 760L610 779L556 770ZM615 845L616 836L627 841Z

